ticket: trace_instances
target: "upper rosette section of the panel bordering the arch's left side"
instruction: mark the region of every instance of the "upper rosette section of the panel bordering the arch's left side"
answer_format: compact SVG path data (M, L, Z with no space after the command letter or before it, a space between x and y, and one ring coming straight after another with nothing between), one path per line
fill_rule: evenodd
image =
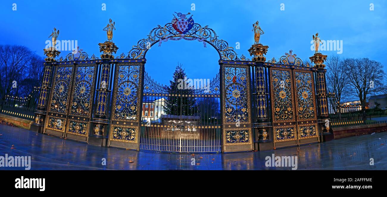
M142 65L117 64L113 96L113 120L139 122Z

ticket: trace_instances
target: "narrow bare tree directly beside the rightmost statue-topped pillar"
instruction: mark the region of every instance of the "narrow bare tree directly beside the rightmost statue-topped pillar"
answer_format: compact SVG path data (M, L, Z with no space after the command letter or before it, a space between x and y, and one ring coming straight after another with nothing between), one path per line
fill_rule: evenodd
M334 93L334 97L328 99L335 113L342 98L348 96L348 79L344 70L343 60L338 55L329 56L325 61L327 67L326 80L327 91Z

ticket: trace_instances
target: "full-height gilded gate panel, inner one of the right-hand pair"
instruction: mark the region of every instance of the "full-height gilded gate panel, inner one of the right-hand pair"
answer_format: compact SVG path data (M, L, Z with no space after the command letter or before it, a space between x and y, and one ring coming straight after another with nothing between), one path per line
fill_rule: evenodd
M274 147L297 144L293 77L290 69L270 69Z

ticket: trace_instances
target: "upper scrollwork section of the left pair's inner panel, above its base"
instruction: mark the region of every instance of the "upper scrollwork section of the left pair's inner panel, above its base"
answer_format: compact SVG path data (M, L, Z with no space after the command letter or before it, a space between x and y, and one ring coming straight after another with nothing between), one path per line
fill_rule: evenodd
M95 65L77 66L70 101L70 114L90 117L94 93Z

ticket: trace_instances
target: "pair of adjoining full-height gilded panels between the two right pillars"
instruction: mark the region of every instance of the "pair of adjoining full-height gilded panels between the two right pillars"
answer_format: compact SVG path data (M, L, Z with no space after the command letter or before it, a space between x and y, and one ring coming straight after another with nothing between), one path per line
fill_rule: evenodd
M312 71L271 67L274 147L319 141Z

